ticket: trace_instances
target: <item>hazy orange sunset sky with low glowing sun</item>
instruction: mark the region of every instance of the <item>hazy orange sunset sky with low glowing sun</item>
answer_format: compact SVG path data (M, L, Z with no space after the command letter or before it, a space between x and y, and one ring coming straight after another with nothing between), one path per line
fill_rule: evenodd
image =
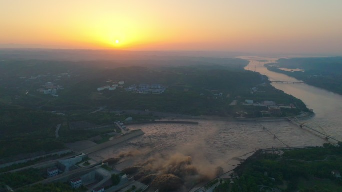
M342 0L0 0L0 44L342 55Z

